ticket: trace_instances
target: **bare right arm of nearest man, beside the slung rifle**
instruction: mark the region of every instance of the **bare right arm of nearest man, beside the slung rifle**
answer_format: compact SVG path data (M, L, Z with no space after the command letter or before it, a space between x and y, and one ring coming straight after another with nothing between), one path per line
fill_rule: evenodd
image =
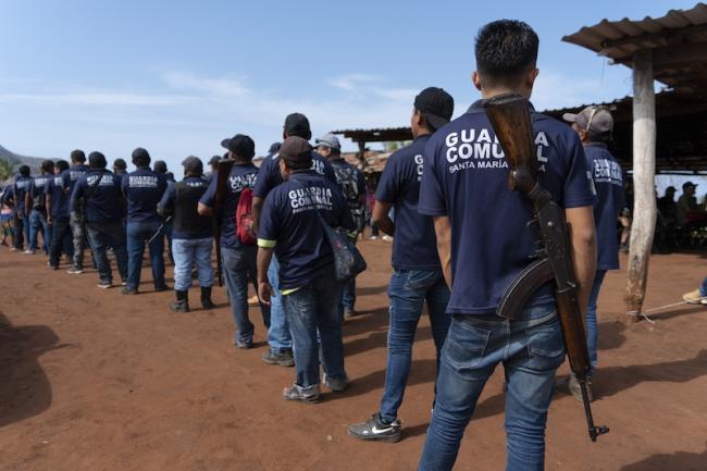
M594 211L591 206L565 210L567 226L572 241L572 261L579 283L578 300L582 314L586 314L590 303L590 293L596 273L596 227Z

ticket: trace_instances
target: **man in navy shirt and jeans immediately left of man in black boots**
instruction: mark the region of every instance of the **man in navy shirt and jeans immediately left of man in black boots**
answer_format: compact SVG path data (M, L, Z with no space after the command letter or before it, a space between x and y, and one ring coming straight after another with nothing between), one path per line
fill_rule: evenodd
M164 283L164 237L157 203L166 190L166 178L150 170L150 154L141 147L133 151L133 164L137 170L123 175L121 184L127 200L127 285L123 294L135 295L138 292L147 240L154 290L163 292L168 289ZM153 237L154 234L158 235Z

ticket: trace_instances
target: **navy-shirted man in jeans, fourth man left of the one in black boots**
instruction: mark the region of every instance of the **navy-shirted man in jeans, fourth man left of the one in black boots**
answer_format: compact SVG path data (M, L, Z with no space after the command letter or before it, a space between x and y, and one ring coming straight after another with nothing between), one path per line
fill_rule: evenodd
M69 162L59 160L54 164L54 177L45 188L47 197L47 222L51 226L51 245L49 248L49 267L59 270L62 250L66 256L74 255L71 226L69 224Z

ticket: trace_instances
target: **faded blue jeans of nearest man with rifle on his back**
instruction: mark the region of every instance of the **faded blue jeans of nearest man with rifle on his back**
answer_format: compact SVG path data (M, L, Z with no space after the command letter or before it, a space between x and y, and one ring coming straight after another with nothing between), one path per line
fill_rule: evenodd
M542 471L547 408L555 373L563 361L565 344L554 303L525 309L513 322L495 314L452 315L418 470L451 470L479 396L503 362L506 470Z

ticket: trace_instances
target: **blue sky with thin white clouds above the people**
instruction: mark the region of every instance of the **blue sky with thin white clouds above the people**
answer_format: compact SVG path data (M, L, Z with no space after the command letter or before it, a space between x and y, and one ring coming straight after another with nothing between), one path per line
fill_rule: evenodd
M407 126L414 96L437 86L457 116L480 98L474 36L504 17L541 38L536 109L613 100L631 94L631 71L561 37L694 4L0 0L0 145L128 163L139 146L177 173L185 157L223 153L221 139L237 133L265 153L292 112L309 117L314 137Z

